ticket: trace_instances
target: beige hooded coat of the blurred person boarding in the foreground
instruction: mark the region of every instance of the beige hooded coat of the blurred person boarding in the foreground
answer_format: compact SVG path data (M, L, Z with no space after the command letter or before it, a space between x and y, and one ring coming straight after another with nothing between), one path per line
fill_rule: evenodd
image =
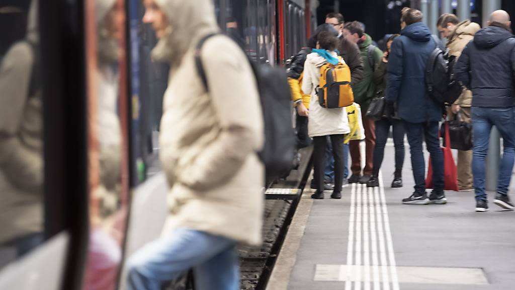
M194 62L198 41L218 31L211 0L158 0L170 22L152 51L170 63L161 120L160 159L170 185L163 234L187 227L261 244L263 120L243 51L226 36L204 43L210 92Z

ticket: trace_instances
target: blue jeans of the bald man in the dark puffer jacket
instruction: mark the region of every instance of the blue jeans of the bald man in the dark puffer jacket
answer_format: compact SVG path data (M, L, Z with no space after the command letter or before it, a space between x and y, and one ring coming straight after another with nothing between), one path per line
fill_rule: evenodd
M488 152L490 130L495 125L503 137L503 159L499 169L497 192L508 194L508 186L515 159L515 108L480 108L473 107L472 127L474 128L474 151L472 157L472 174L476 200L486 200L485 192L485 158Z

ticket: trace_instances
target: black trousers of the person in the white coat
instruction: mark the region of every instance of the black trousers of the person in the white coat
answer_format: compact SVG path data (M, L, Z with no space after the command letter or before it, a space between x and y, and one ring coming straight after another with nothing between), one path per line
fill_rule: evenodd
M344 135L329 135L333 146L334 157L334 192L341 192L341 182L344 179ZM317 183L317 191L322 192L324 188L324 168L325 168L325 146L327 137L313 137L315 144L313 152L314 179Z

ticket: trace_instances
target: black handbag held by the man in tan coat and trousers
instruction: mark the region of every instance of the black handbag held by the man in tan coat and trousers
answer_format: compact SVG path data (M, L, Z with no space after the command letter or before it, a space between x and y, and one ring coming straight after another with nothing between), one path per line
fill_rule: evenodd
M459 112L453 114L454 120L449 120L449 136L451 137L451 148L461 151L472 150L474 147L474 133L472 124L460 121ZM445 126L442 124L440 135L443 137L443 146L445 147Z

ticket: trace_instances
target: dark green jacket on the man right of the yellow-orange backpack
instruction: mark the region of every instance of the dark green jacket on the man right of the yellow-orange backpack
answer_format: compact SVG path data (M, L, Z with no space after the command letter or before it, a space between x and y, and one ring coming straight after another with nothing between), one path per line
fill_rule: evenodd
M368 104L375 94L375 85L373 82L374 70L368 57L368 46L372 44L372 38L368 34L365 34L365 36L367 39L358 44L359 52L361 53L361 58L363 60L363 79L352 87L354 92L354 102L361 105L362 111L367 110ZM374 66L381 61L382 57L383 52L376 47Z

